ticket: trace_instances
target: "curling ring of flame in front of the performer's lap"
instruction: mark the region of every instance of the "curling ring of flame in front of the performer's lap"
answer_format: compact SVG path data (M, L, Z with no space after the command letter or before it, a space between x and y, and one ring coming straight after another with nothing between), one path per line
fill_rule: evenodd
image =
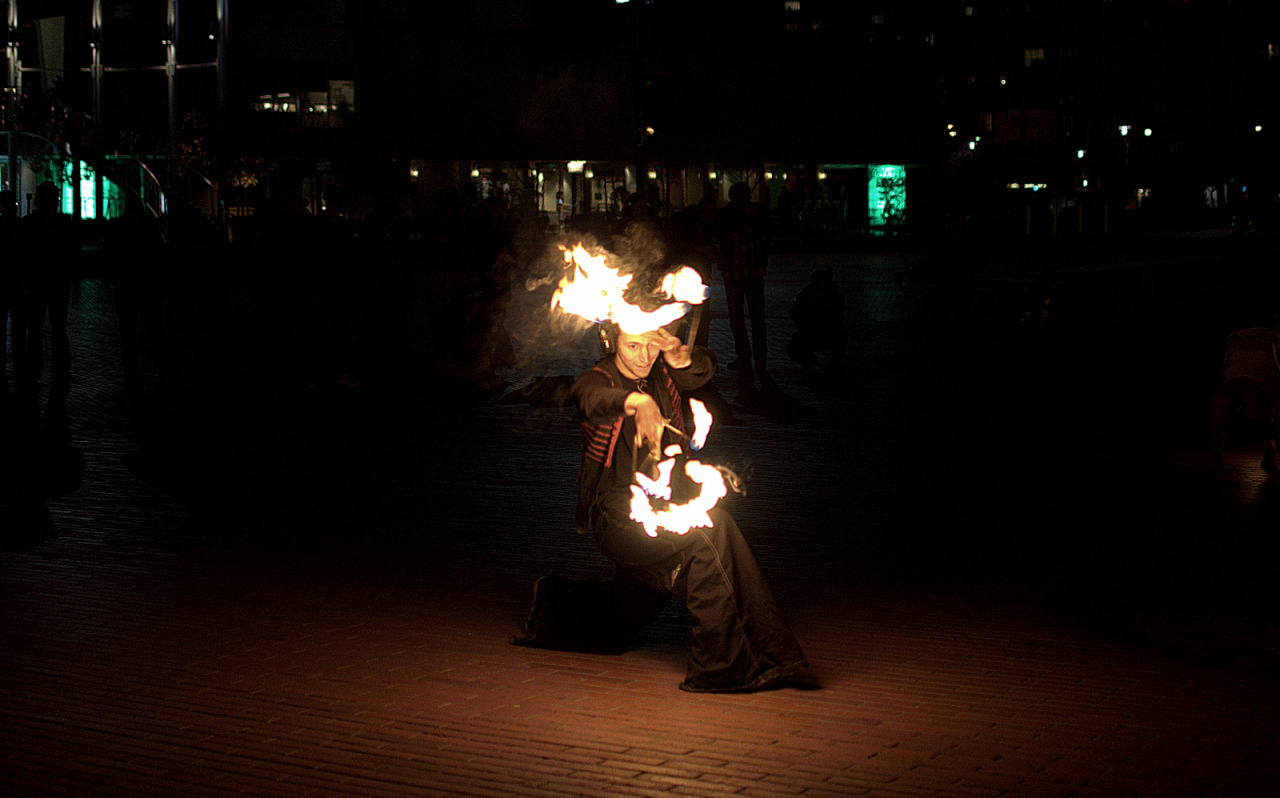
M707 442L707 434L712 428L712 414L701 401L690 398L689 406L694 415L694 434L689 438L689 448L698 451ZM636 471L635 482L631 485L631 520L644 526L644 532L650 538L658 537L659 529L666 529L673 534L687 534L696 526L710 526L710 510L728 493L724 474L713 465L705 465L698 460L685 464L685 474L691 480L701 485L698 496L682 505L669 503L671 501L671 474L676 468L676 457L681 453L678 446L668 446L663 450L667 460L658 464L658 476L650 478L643 471ZM653 500L667 502L664 507L654 507Z

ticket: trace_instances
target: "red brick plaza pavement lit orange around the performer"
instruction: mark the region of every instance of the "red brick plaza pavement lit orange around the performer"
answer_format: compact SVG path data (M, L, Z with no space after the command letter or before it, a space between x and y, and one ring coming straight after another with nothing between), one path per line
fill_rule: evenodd
M451 412L412 383L278 405L192 368L209 401L131 416L110 284L83 281L83 471L3 506L0 793L1274 794L1280 487L1247 436L1225 479L1198 451L1231 292L1202 264L1162 260L1152 293L1060 257L1071 334L1028 361L1023 274L983 281L942 354L902 257L777 254L796 406L710 451L749 478L728 501L820 688L751 696L676 689L680 607L621 657L507 644L535 576L605 570L570 532L566 412ZM817 264L850 304L838 387L781 357ZM541 301L513 298L517 341ZM182 320L207 362L216 319Z

